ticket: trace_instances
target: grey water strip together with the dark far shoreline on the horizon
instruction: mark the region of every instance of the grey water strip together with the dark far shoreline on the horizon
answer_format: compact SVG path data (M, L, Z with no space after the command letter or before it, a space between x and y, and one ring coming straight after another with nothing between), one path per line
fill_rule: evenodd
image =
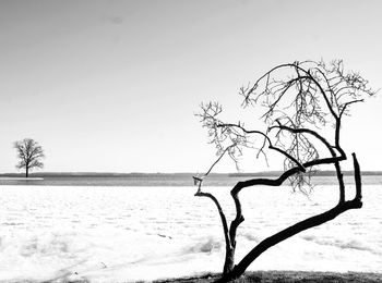
M277 179L277 172L253 173L253 174L210 174L203 181L204 186L234 186L237 182L250 179ZM34 185L34 186L166 186L166 187L192 187L194 186L192 173L35 173L25 179L22 174L0 174L0 185ZM353 185L353 172L344 173L345 184ZM289 185L288 181L284 185ZM311 184L337 185L336 175L325 171L315 174ZM382 173L365 172L362 174L363 185L381 185Z

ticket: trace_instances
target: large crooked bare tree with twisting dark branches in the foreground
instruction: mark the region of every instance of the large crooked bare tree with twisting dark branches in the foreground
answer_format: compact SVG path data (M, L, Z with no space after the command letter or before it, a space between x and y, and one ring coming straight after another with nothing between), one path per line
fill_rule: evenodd
M240 88L242 107L259 107L264 131L252 130L242 122L226 123L219 120L223 108L217 102L201 106L201 122L208 131L211 143L217 149L217 160L202 176L194 176L195 196L210 198L220 216L226 243L226 257L220 282L239 278L266 249L305 230L321 225L338 214L362 207L361 174L356 155L353 153L356 194L346 200L346 189L341 162L347 159L341 146L341 126L349 107L374 95L368 82L358 73L345 73L343 61L305 61L280 64L263 74L252 85ZM330 134L327 134L330 133ZM329 135L329 137L327 137ZM203 180L227 155L237 164L246 148L256 150L256 157L266 159L273 150L284 157L284 172L276 179L250 179L238 182L230 190L236 217L228 220L220 204L211 193L202 190ZM308 218L271 235L253 247L235 264L236 236L244 221L239 194L243 188L265 185L280 186L289 181L294 189L308 194L311 176L320 165L331 164L338 182L338 202L323 213Z

